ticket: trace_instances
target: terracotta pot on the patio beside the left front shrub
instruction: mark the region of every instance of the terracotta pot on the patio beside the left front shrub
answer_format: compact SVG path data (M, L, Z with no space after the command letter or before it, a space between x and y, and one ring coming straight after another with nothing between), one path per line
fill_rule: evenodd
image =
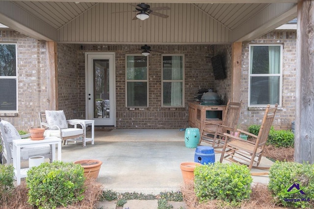
M81 160L74 163L80 164L84 168L84 176L92 179L97 179L100 167L103 164L99 160Z

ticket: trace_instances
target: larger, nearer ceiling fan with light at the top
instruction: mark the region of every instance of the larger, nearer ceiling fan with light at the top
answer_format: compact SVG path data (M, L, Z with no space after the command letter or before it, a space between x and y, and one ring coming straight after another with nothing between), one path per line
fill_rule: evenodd
M161 13L158 13L158 12L155 12L157 10L164 10L164 9L170 9L169 7L167 6L161 6L161 7L155 7L155 8L151 8L150 5L148 4L145 4L145 3L140 3L140 4L137 4L137 5L133 5L131 3L129 3L129 5L135 7L135 11L133 12L138 12L136 14L136 16L132 19L132 20L136 20L136 19L140 19L140 20L146 20L147 18L149 18L149 15L156 15L158 17L161 17L161 18L167 18L169 17L168 15L164 15L164 14L161 14ZM115 13L115 12L114 12Z

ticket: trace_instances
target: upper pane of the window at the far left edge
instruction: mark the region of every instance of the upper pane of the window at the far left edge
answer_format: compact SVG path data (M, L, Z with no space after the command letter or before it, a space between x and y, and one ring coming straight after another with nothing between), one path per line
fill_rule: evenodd
M0 76L16 76L16 51L13 44L0 44Z

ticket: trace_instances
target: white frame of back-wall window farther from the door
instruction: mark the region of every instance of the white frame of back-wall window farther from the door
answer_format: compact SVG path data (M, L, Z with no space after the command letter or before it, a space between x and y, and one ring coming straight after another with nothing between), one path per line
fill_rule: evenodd
M164 80L163 79L163 57L165 56L181 56L182 66L183 66L183 76L182 80ZM185 81L185 64L184 64L184 54L162 54L161 55L161 107L163 108L183 108L184 107L184 81ZM163 82L182 82L182 105L181 106L169 106L163 104Z

